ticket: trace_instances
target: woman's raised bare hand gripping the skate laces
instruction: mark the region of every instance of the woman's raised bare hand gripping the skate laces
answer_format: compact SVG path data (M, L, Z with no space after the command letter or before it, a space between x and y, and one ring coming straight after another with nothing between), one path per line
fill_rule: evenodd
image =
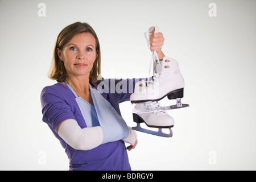
M164 44L164 37L161 32L154 33L155 28L153 28L150 34L150 51L156 51L158 53L159 59L163 59L164 53L162 52L162 47Z

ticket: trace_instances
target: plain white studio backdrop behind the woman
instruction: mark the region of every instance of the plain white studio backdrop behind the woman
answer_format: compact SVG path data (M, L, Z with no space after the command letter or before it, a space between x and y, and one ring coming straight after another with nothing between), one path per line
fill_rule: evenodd
M105 78L147 76L143 33L151 26L164 34L163 52L179 61L182 101L191 106L168 111L172 138L138 132L128 152L133 170L255 170L255 12L254 0L1 0L0 169L68 170L42 122L40 92L55 84L47 71L57 35L80 21L100 39ZM130 102L121 111L135 126Z

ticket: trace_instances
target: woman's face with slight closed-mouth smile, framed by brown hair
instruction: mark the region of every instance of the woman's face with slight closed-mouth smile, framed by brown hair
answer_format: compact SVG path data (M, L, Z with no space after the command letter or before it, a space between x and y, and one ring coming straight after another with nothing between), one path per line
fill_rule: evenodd
M88 32L77 34L57 53L69 76L90 76L93 63L97 57L96 40Z

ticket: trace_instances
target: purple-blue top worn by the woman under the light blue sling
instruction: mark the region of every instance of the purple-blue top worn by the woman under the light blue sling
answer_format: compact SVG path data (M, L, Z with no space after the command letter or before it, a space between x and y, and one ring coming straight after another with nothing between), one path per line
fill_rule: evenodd
M110 102L119 115L119 103L130 100L134 85L139 79L105 79L90 82ZM81 128L87 127L72 91L61 82L46 86L41 93L43 121L61 145L69 158L69 170L131 170L125 143L122 140L101 144L92 150L75 150L57 134L57 127L66 119L75 119ZM92 112L94 114L94 112Z

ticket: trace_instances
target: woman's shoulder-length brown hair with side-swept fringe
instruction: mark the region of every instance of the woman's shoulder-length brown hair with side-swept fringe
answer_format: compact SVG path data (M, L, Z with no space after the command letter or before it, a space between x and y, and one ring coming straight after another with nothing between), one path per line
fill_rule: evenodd
M53 58L51 63L51 68L49 69L49 78L52 80L56 80L58 82L63 82L66 80L67 71L65 69L63 61L60 60L57 54L57 48L63 50L65 44L67 44L73 36L76 34L80 34L83 32L89 32L92 34L96 40L96 51L97 57L94 61L92 71L90 71L90 81L97 82L98 75L101 74L101 50L100 50L100 42L98 41L98 37L96 32L93 30L91 26L87 23L76 22L73 24L69 24L69 26L65 27L60 34L57 36Z

